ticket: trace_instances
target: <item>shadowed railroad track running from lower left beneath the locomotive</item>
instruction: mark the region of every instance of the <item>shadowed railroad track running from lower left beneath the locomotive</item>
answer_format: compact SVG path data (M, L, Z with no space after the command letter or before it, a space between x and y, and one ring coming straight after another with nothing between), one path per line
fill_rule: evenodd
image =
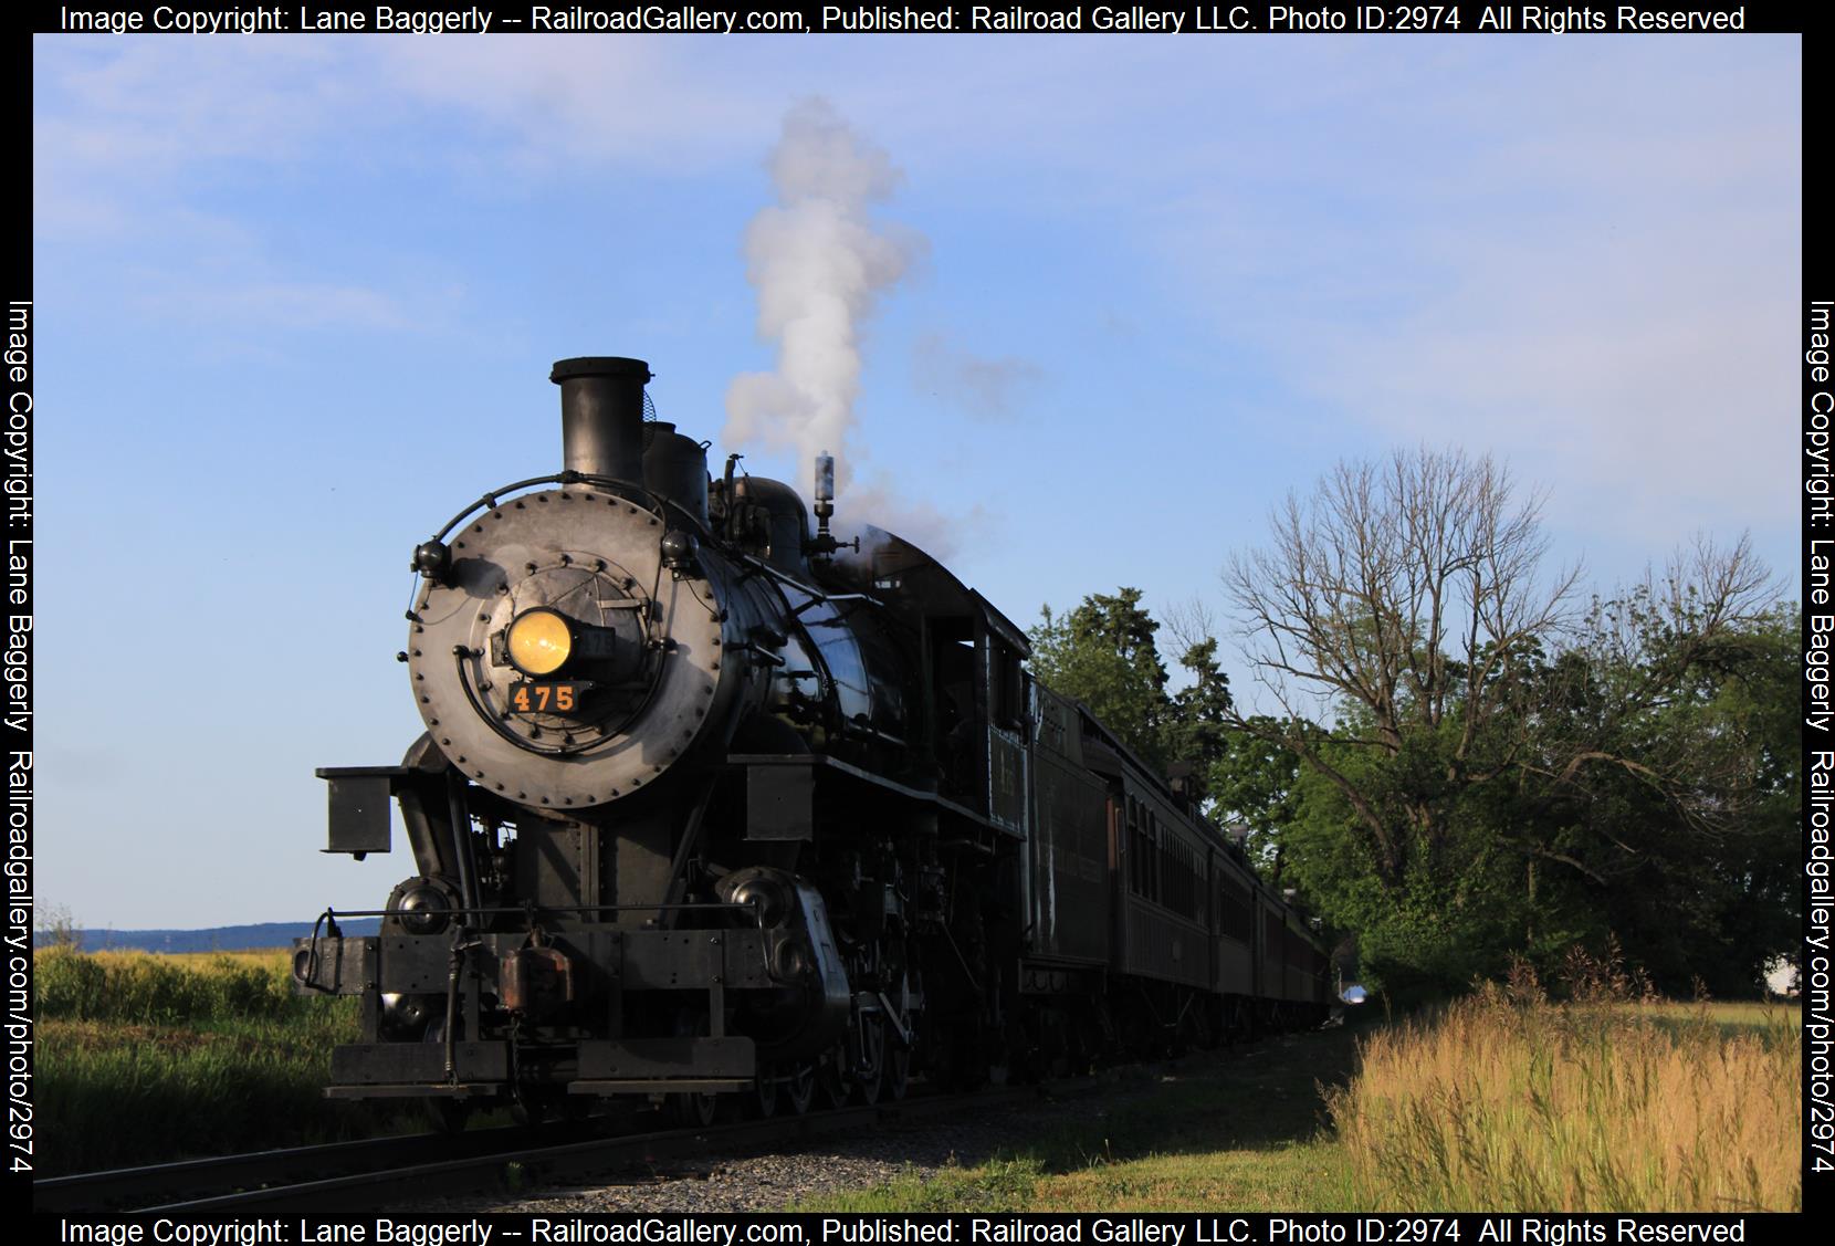
M1051 1094L1075 1092L1084 1079L1051 1083ZM369 1138L354 1143L257 1151L182 1160L106 1173L79 1173L33 1182L37 1211L116 1211L195 1215L211 1211L349 1211L446 1193L475 1193L503 1180L508 1165L530 1184L587 1174L622 1163L741 1151L822 1134L855 1132L881 1123L918 1119L963 1108L998 1107L1039 1097L1037 1086L978 1094L912 1096L899 1103L844 1107L807 1116L664 1129L635 1134L580 1136L574 1127L512 1127L459 1134ZM560 1138L560 1140L558 1140Z

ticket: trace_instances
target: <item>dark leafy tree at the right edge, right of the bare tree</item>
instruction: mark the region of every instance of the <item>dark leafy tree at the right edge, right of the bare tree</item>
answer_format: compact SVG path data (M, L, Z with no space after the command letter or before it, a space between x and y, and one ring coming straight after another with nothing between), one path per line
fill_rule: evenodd
M1734 993L1800 925L1796 611L1699 646L1697 600L1639 585L1593 606L1551 664L1549 760L1525 767L1510 828L1549 866L1541 914L1617 934L1666 989Z

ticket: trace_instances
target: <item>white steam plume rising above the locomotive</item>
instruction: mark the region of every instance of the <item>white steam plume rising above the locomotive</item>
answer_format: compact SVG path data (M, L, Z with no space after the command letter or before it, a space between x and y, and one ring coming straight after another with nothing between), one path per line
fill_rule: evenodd
M758 288L758 336L774 341L774 373L747 373L727 389L727 444L795 448L807 490L815 455L835 455L835 492L853 473L853 400L861 389L861 328L923 251L916 233L877 228L873 202L890 198L890 156L822 99L784 117L771 152L778 202L745 231L747 279Z

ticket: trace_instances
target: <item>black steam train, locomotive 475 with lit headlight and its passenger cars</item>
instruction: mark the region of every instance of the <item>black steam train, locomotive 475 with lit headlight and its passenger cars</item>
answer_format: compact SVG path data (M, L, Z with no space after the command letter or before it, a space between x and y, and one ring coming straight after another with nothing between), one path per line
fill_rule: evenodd
M328 851L413 873L301 991L356 995L334 1097L688 1121L971 1086L1325 1017L1327 956L1026 635L890 532L554 365L563 470L413 552L426 734L321 769ZM356 914L345 914L349 919Z

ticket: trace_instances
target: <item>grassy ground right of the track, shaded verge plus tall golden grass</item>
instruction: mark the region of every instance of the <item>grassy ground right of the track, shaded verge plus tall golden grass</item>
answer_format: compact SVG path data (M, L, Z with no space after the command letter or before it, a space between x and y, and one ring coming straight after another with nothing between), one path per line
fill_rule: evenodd
M1802 1207L1784 1009L1485 989L1141 1077L1095 1125L806 1209Z

